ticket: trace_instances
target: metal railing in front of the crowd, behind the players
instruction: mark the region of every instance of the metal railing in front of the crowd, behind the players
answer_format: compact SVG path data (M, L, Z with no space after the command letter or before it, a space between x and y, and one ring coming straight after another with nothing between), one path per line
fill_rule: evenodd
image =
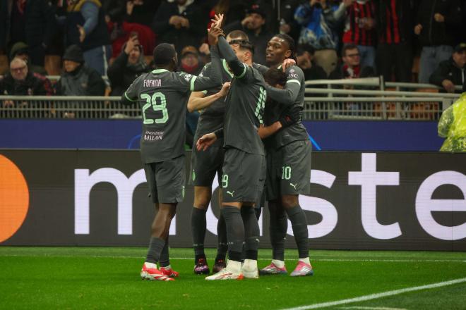
M378 88L380 80L306 81L305 120L438 120L441 112L460 97L438 92L309 87L330 82L330 86ZM409 83L398 84L403 89L415 88ZM419 88L419 84L416 86ZM120 97L0 96L0 118L141 118L141 109L137 104L124 106Z

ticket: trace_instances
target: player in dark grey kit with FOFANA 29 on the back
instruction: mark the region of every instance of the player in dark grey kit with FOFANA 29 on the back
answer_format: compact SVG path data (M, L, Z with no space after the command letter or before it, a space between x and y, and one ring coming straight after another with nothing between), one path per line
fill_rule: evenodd
M155 215L148 254L141 270L141 278L174 280L178 273L169 265L168 233L177 204L184 199L184 135L186 104L191 91L217 87L221 83L220 56L215 44L222 33L211 28L212 70L210 77L196 77L175 73L177 52L170 44L154 49L156 69L134 80L124 92L124 104L138 103L143 114L141 156L155 203ZM157 269L160 263L160 270Z

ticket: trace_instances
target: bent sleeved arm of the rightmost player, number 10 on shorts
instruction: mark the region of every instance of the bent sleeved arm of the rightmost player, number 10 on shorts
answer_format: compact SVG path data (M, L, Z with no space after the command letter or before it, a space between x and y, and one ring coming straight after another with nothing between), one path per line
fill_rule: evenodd
M285 89L278 89L270 85L265 85L267 96L271 99L280 102L280 104L294 104L299 91L301 82L304 82L304 73L298 66L292 66L286 70L287 83Z

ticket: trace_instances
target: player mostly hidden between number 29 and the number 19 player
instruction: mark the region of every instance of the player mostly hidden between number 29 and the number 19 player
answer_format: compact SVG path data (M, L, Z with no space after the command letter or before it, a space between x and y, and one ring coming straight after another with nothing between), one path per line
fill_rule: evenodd
M239 46L239 42L247 41L246 33L241 30L234 30L226 37L227 42L232 45L233 49ZM265 73L267 67L253 63L253 67ZM230 82L233 77L232 71L227 66L227 61L222 59L222 82ZM207 63L201 74L202 76L210 75L210 63ZM199 137L214 132L223 127L223 118L225 116L225 99L219 97L217 89L209 89L203 92L193 92L188 101L189 111L193 111L193 106L207 106L201 112L198 120L198 127L194 141ZM215 178L215 173L221 178L223 165L223 139L217 141L206 151L197 151L193 146L191 154L191 184L194 185L194 202L191 213L191 230L193 236L194 249L194 273L208 274L210 272L207 260L204 253L204 240L206 231L205 212L210 204L212 193L212 182ZM220 183L220 180L219 180ZM219 200L221 200L221 190L219 190ZM225 228L225 220L220 213L220 218L217 223L217 256L213 266L213 273L217 273L222 268L225 268L225 256L227 254L227 232Z

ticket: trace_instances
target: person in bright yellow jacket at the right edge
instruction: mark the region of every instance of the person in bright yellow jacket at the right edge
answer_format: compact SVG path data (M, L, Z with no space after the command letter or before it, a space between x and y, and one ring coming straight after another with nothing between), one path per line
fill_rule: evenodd
M466 151L466 84L462 92L460 99L443 111L438 120L438 135L446 137L440 151Z

